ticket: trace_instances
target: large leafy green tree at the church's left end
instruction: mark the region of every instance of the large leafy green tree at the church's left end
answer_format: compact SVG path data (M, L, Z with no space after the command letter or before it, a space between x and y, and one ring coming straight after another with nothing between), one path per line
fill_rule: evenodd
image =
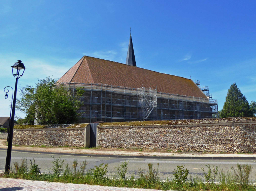
M21 98L17 99L16 108L26 113L24 123L33 124L68 124L80 119L77 112L81 106L83 90L75 93L56 83L56 79L39 80L35 87L26 85L20 88Z

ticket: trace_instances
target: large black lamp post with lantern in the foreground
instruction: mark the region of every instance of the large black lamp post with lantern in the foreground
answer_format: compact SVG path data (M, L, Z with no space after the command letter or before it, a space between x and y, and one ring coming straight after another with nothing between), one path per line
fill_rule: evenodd
M11 166L12 138L13 138L13 125L14 125L14 115L15 115L15 105L16 105L17 84L18 84L18 79L23 75L25 69L26 68L24 64L21 63L21 60L18 60L18 63L14 63L14 65L12 66L12 74L14 75L14 78L16 78L16 82L15 82L15 89L14 89L12 117L11 117L11 124L10 124L10 130L9 130L9 140L8 140L6 163L5 163L5 173L8 173L8 174ZM23 72L21 70L23 70Z

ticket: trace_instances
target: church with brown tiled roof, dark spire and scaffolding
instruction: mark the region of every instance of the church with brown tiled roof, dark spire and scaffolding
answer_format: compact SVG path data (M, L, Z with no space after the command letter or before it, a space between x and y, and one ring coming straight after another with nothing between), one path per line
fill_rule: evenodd
M78 111L83 123L213 118L218 113L217 100L200 81L137 67L131 35L126 64L83 56L58 82L85 90Z

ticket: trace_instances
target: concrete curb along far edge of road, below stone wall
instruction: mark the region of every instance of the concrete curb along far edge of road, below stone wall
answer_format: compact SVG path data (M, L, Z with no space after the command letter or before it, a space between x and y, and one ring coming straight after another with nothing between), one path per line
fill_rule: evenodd
M0 148L0 150L7 150ZM39 153L50 155L68 155L68 156L90 156L90 157L109 157L109 158L125 158L125 159L193 159L193 160L255 160L255 156L132 156L132 155L96 155L96 154L75 154L75 153L57 153L57 152L41 152L33 150L16 150L14 152L22 153Z

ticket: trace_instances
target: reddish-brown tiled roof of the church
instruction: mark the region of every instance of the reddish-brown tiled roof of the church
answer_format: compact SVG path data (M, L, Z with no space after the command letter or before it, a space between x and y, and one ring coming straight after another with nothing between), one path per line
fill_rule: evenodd
M206 98L190 79L89 56L81 58L58 82L103 83L132 88L143 85L156 87L158 92Z

